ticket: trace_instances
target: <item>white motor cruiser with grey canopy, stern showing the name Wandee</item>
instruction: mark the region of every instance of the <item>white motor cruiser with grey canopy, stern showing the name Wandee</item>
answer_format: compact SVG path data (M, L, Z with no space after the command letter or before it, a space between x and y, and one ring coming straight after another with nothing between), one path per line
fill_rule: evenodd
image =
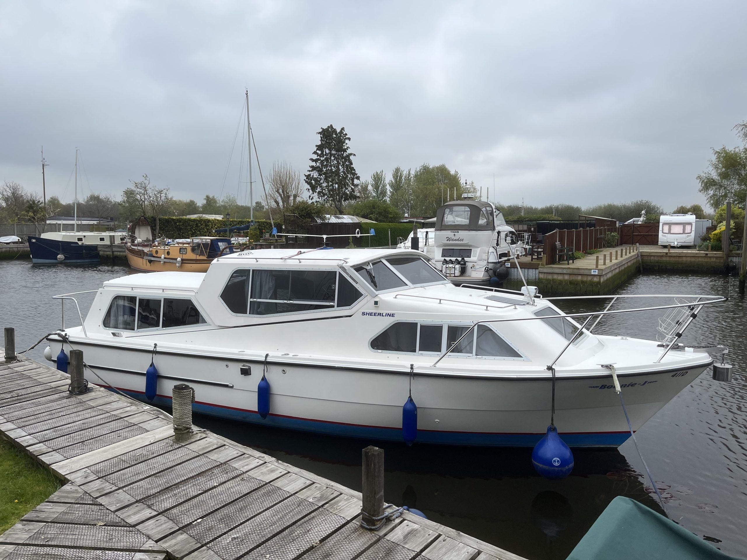
M489 284L506 278L503 261L524 254L524 243L491 202L465 199L436 211L433 258L454 284Z

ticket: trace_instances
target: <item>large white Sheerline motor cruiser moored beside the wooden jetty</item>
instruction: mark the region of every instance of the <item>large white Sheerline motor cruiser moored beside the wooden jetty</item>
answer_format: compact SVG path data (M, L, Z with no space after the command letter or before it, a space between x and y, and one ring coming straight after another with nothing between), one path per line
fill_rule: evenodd
M412 395L418 442L481 446L536 444L553 404L567 444L622 444L613 377L638 429L712 364L675 340L723 301L670 306L663 344L600 336L592 314L581 328L536 288L457 287L407 249L246 251L95 291L82 326L46 339L50 359L82 349L91 382L161 404L187 383L205 414L400 441Z

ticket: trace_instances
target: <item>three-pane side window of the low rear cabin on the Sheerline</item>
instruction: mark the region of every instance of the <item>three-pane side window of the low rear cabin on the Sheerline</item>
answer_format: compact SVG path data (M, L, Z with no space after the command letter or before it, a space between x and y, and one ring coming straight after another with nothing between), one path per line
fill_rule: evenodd
M102 322L105 329L121 331L171 329L200 323L205 323L205 319L191 299L137 296L115 296Z

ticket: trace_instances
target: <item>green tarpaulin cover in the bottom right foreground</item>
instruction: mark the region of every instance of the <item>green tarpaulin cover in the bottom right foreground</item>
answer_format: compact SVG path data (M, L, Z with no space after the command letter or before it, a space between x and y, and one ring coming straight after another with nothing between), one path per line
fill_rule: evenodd
M740 560L636 500L616 497L567 560Z

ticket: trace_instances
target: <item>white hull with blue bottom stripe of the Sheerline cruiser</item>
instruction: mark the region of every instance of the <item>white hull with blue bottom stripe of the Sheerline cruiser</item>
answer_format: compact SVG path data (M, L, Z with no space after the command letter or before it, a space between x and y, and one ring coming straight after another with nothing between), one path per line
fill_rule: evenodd
M49 337L52 356L61 342ZM65 345L69 351L69 345ZM146 349L72 340L84 350L90 382L145 399ZM276 360L277 358L273 358ZM126 365L125 365L126 364ZM242 376L247 364L251 375ZM195 411L284 429L373 440L402 441L402 406L409 395L403 371L345 364L267 364L270 415L257 413L257 384L263 364L257 358L221 358L198 352L159 352L156 402L170 405L173 385L196 391ZM654 364L652 364L653 366ZM672 370L621 374L625 405L636 430L710 364ZM126 369L125 369L126 368ZM412 398L418 405L419 443L533 446L545 434L551 416L549 379L510 376L416 374ZM560 376L555 424L574 447L617 447L630 437L619 396L610 376Z

